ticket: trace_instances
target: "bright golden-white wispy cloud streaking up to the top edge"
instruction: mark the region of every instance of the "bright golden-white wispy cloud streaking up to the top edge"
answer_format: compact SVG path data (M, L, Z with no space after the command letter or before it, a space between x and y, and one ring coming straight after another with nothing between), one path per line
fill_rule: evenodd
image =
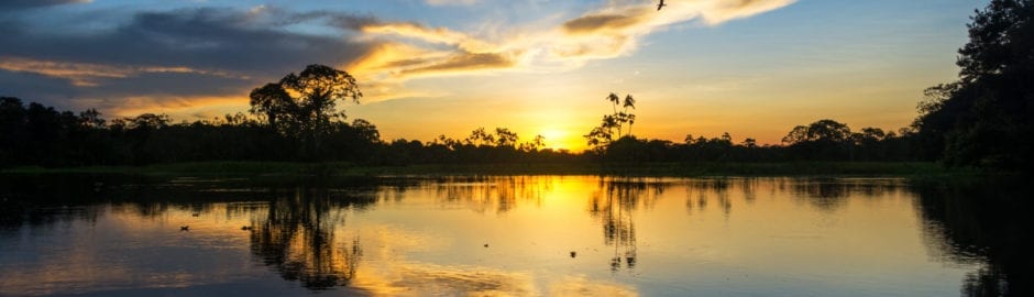
M360 28L364 38L386 38L400 45L374 47L372 53L353 65L358 66L358 73L398 81L417 76L574 69L588 61L631 54L642 37L672 24L696 21L704 25L718 25L794 1L681 1L670 3L662 11L644 2L609 2L552 28L516 31L502 36L410 22L370 23ZM420 58L415 59L415 56Z

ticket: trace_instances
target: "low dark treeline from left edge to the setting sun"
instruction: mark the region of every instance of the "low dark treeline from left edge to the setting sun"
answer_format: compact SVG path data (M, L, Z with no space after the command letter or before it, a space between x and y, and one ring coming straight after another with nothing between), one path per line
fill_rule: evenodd
M0 165L146 165L199 161L353 162L361 164L558 162L578 156L518 142L516 133L475 130L471 138L382 141L365 120L329 121L308 135L285 134L243 113L173 123L145 113L106 120L96 110L75 113L18 98L0 98ZM308 139L308 140L306 140ZM304 143L319 142L310 147Z

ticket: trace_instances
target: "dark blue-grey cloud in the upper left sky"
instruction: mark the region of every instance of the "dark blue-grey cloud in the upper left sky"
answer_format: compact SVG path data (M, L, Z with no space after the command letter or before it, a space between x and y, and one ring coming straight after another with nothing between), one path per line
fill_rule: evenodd
M0 38L0 61L131 69L122 77L90 77L95 86L73 86L72 78L31 69L0 69L3 85L18 81L13 88L0 87L0 95L75 109L84 107L68 103L69 98L114 102L123 97L246 96L251 86L276 80L309 64L346 65L374 46L349 41L345 31L338 36L302 34L284 29L284 24L317 22L348 30L376 22L371 16L345 13L279 11L256 15L254 11L215 8L139 12L127 20L109 29L75 34L25 30L34 28L29 20L0 29L6 34ZM147 67L191 70L140 70Z

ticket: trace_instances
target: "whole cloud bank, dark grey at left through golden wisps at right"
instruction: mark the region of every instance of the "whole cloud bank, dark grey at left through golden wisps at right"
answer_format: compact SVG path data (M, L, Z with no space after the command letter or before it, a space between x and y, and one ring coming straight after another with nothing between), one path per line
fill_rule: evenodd
M367 102L405 97L400 94L440 96L441 90L408 89L405 84L439 76L576 69L629 55L645 36L672 24L717 25L793 1L678 1L662 11L647 1L607 1L576 14L464 30L270 6L67 12L72 19L102 14L111 20L74 30L48 26L40 18L2 18L0 78L18 82L0 86L0 95L64 109L116 108L130 100L124 98L136 98L141 110L144 103L168 108L157 101L187 105L191 97L235 97L243 108L251 88L319 63L359 77L361 86L373 90L366 91ZM76 2L84 1L0 1L0 8Z

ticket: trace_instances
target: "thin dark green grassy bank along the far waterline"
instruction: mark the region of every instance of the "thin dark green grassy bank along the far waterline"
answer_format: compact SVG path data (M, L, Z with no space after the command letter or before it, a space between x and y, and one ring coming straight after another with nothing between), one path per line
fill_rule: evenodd
M972 175L921 162L787 162L787 163L532 163L532 164L421 164L367 166L349 163L196 162L147 166L90 166L0 169L7 175L121 174L142 176L400 176L400 175L629 175L629 176L943 176Z

